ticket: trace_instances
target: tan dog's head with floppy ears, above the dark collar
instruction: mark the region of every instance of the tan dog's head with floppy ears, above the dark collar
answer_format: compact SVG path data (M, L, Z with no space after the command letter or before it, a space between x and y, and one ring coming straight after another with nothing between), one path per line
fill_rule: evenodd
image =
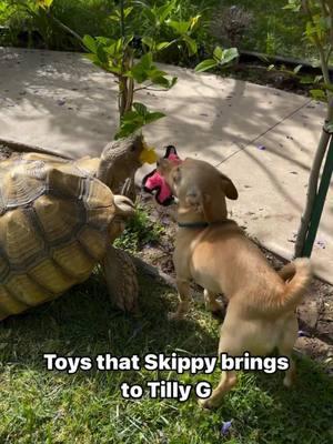
M225 198L238 199L232 181L210 163L185 159L175 165L168 159L158 161L158 170L179 200L179 215L188 221L226 219Z

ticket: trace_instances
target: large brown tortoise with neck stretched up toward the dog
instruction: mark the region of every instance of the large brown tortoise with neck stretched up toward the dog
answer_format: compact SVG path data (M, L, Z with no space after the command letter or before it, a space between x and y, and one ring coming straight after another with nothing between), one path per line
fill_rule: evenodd
M0 161L0 320L53 300L100 263L108 291L134 310L130 256L112 246L133 202L119 192L147 145L141 134L108 144L101 158L14 153Z

